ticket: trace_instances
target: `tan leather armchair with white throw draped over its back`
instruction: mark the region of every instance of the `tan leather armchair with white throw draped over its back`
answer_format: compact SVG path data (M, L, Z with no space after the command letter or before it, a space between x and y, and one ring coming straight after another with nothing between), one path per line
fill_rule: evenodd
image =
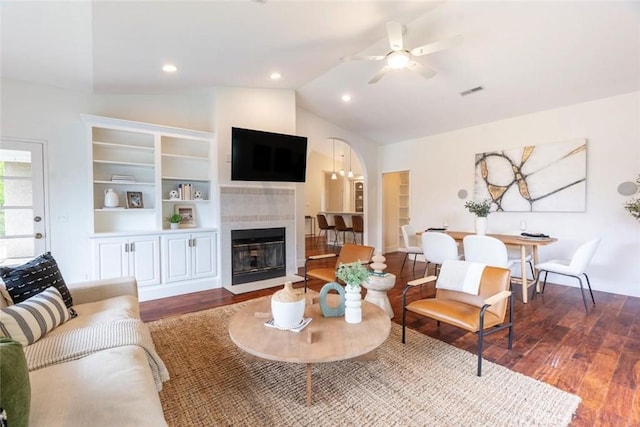
M443 263L441 268L447 268ZM410 311L438 322L474 332L478 335L478 376L482 375L482 345L486 335L509 329L509 345L513 344L513 304L510 289L511 272L506 268L485 267L480 278L478 295L446 289L437 289L435 298L420 299L407 304L409 290L428 282L436 276L424 277L407 283L402 291L402 343L405 343L406 313ZM509 316L506 318L507 308Z

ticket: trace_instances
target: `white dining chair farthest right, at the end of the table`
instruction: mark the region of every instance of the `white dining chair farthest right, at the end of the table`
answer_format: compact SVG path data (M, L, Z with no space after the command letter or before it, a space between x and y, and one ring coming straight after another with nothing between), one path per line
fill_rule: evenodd
M547 285L547 275L549 273L560 274L562 276L575 277L578 279L578 283L580 283L580 292L582 293L582 302L584 303L584 310L588 313L589 309L587 308L587 298L584 295L584 287L582 286L582 276L587 280L587 286L589 287L589 294L591 294L591 301L593 305L596 305L596 300L593 297L593 291L591 290L591 283L589 282L589 276L587 276L586 270L591 262L591 258L598 249L598 245L600 244L600 238L589 240L588 242L583 243L576 249L573 256L570 260L564 259L554 259L551 261L542 262L540 264L536 264L536 269L538 270L538 279L540 278L540 274L544 272L544 281L542 282L542 291L540 293L544 293L544 288ZM533 287L533 297L536 296L536 286Z

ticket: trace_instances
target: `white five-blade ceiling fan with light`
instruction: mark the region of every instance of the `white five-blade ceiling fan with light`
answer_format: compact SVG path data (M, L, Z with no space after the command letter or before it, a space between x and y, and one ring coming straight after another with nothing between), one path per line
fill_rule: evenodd
M451 39L427 43L409 50L404 47L403 33L405 29L406 27L399 22L387 22L387 35L389 37L391 51L386 55L352 56L345 59L350 61L381 61L384 59L386 61L386 65L369 80L369 84L377 83L391 70L402 70L403 68L408 68L420 74L425 79L430 79L436 75L436 71L416 62L414 57L448 49L462 39L462 37L457 36Z

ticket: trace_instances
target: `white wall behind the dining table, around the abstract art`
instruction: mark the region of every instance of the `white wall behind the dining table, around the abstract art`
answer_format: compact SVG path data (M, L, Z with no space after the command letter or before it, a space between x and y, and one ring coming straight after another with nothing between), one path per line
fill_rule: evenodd
M475 154L573 138L587 139L587 209L580 213L489 215L489 232L528 229L559 241L541 248L541 260L569 257L584 240L602 237L588 269L594 289L640 296L640 223L616 189L640 173L640 92L528 114L381 148L382 172L411 171L411 216L417 228L473 230L473 216L457 197L473 195ZM637 195L638 196L638 195ZM575 285L572 279L550 277ZM596 301L597 303L597 301Z

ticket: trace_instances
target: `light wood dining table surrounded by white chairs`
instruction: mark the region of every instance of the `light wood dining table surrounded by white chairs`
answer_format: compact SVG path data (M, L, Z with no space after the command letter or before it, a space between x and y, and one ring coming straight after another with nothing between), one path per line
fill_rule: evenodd
M469 236L475 233L467 232L467 231L445 231L449 236L453 237L456 242L462 242L465 236ZM423 232L419 232L417 234L422 234ZM520 275L522 277L514 277L512 281L516 283L520 283L522 285L522 302L528 302L528 288L532 285L537 285L536 278L538 277L538 271L534 270L534 276L532 280L527 279L527 253L531 251L533 258L533 265L535 266L539 262L538 258L538 248L540 246L550 245L551 243L557 242L558 239L555 237L545 237L545 238L532 238L532 237L523 237L521 235L512 235L512 234L487 234L487 236L495 237L500 240L507 246L517 246L520 248ZM539 292L539 289L536 289L536 292Z

